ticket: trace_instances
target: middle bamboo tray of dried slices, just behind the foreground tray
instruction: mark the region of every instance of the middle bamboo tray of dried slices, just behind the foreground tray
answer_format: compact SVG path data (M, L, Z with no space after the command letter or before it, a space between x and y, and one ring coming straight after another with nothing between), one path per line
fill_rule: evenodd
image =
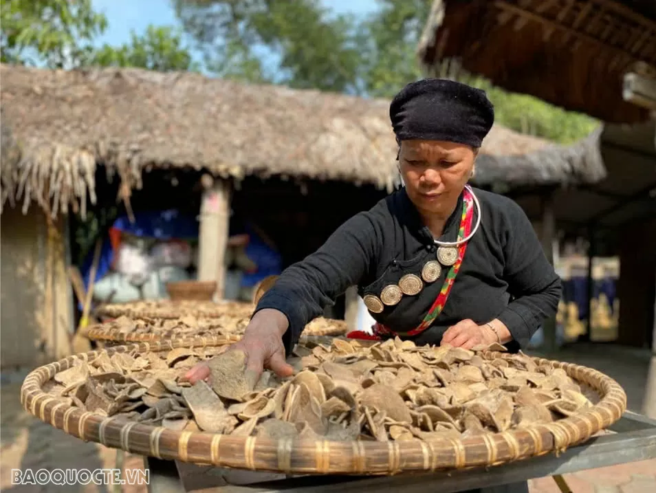
M90 340L107 342L144 342L163 339L189 339L222 336L239 340L248 325L248 316L220 316L196 319L187 316L179 320L140 320L120 318L88 327L85 336ZM344 320L319 317L303 329L304 336L343 336L347 333Z

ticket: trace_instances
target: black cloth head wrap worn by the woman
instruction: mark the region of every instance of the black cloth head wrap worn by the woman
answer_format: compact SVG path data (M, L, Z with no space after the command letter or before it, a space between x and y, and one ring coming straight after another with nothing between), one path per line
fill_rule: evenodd
M494 122L485 91L428 78L406 85L389 107L397 140L446 140L480 147Z

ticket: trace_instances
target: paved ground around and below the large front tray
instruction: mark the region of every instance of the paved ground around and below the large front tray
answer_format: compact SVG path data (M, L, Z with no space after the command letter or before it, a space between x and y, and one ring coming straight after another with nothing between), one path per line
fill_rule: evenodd
M603 371L626 390L628 408L640 412L648 354L613 347L578 347L564 351L559 360L577 362ZM12 485L12 469L116 468L117 452L85 443L26 413L20 404L23 375L2 375L0 399L0 491L11 493L145 493L145 486L124 485L122 490L102 485ZM142 468L142 457L126 454L124 469ZM656 460L566 474L573 493L655 493ZM560 493L551 478L529 481L531 493Z

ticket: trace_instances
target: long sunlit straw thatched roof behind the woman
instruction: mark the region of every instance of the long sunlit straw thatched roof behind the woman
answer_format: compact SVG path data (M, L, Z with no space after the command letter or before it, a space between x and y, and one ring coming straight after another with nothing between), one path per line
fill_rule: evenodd
M3 125L19 158L3 156L3 202L84 210L96 166L129 189L150 168L213 175L397 181L389 101L141 69L50 71L1 66ZM590 183L604 176L598 135L571 147L494 127L477 181ZM79 205L76 205L79 204Z

